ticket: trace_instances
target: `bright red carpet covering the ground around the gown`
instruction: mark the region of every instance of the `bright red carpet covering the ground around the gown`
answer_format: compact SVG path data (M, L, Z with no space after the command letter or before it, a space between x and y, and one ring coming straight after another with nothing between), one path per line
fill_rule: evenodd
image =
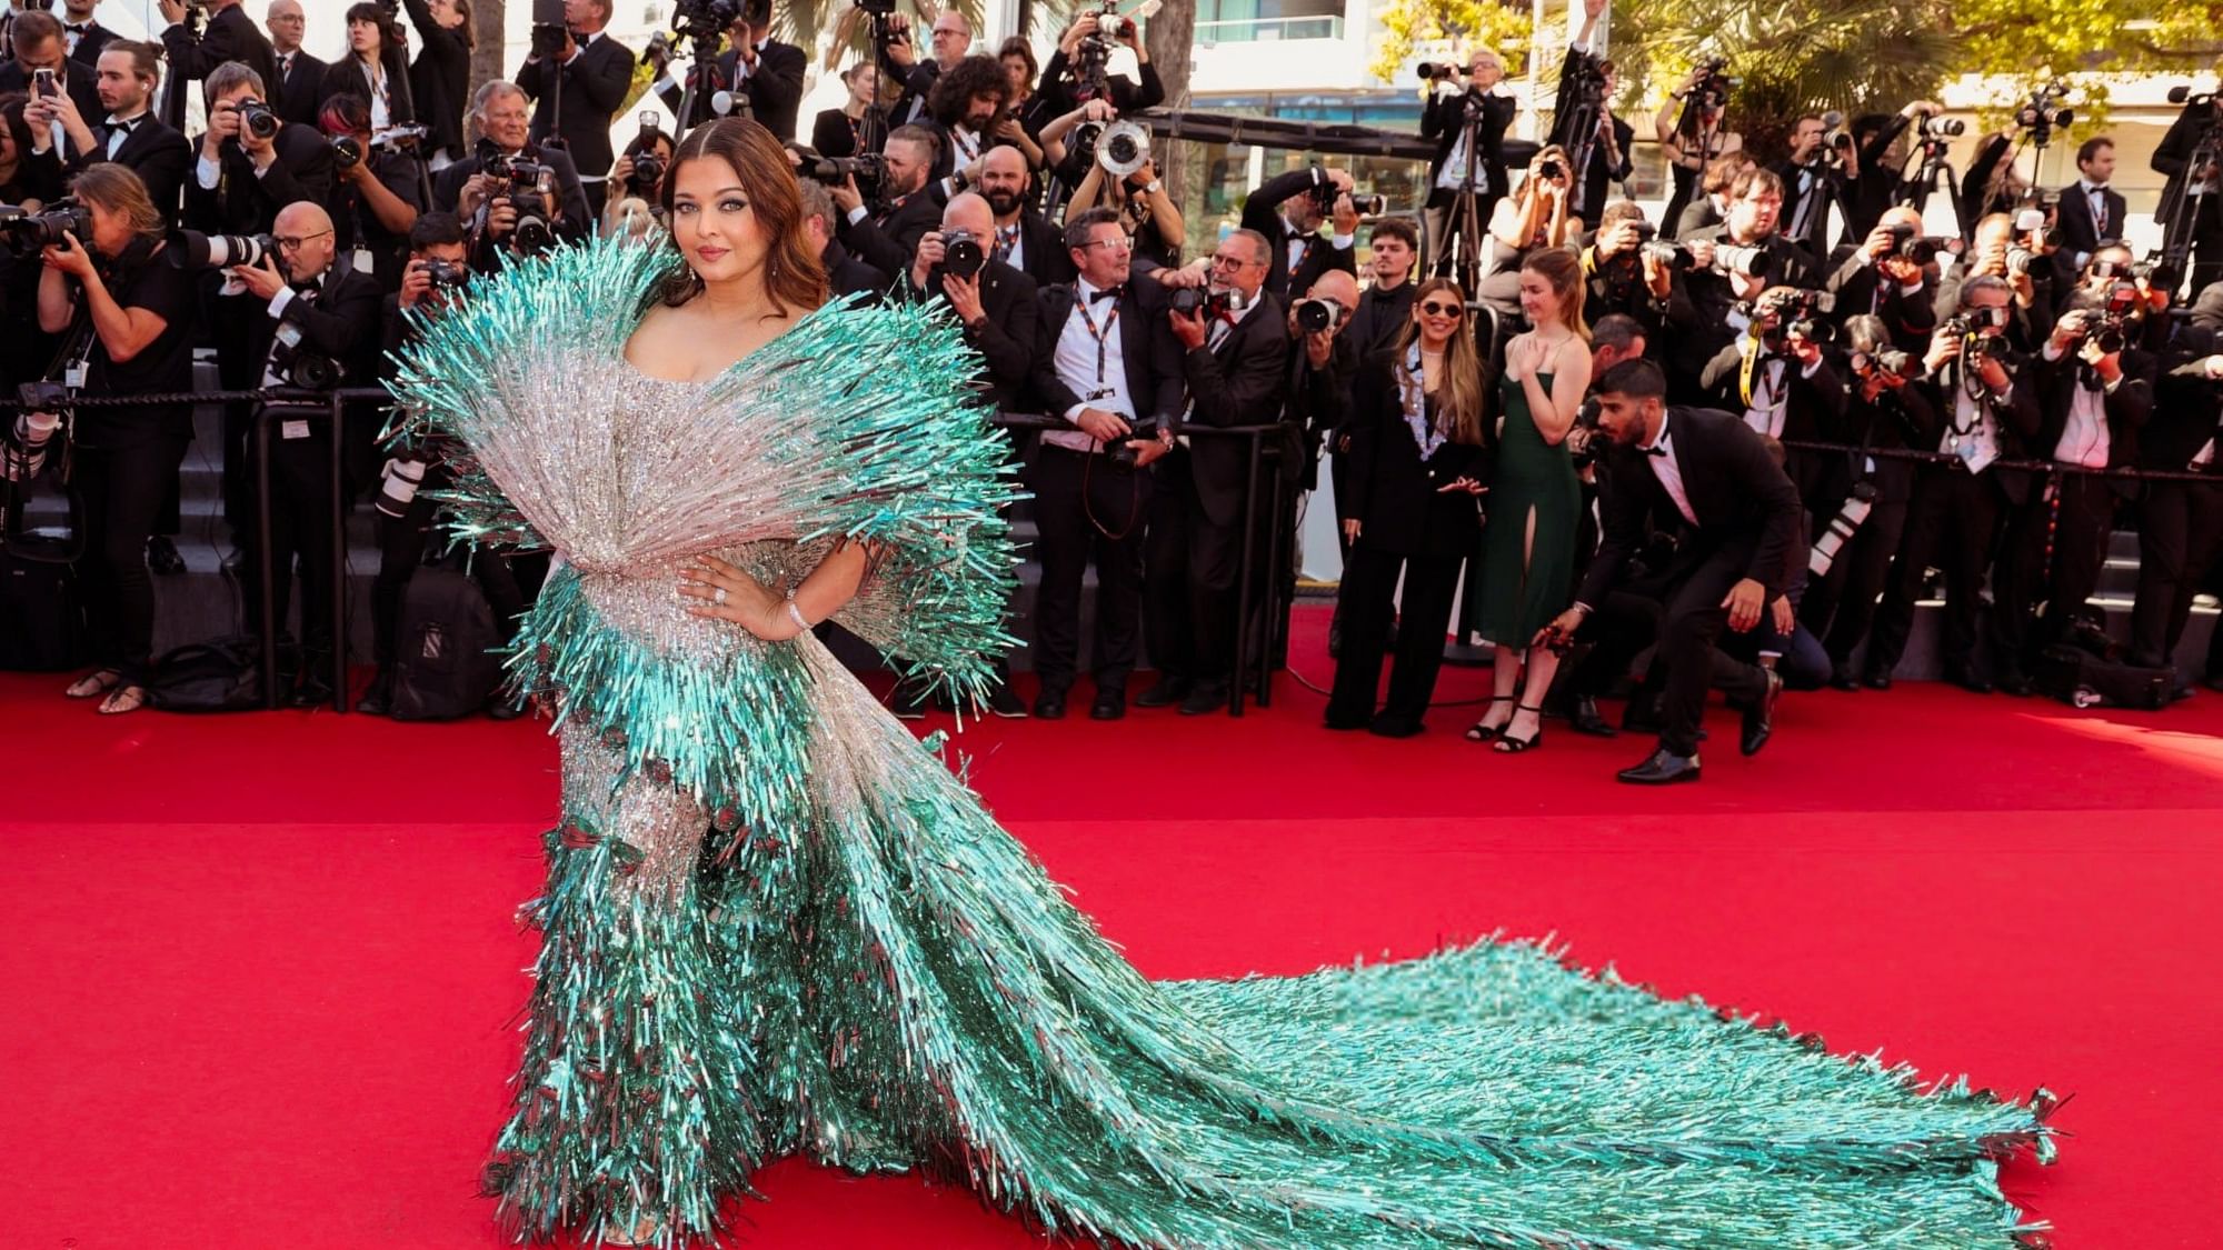
M511 912L556 810L545 725L98 718L60 685L0 678L0 1248L500 1246L473 1185L531 954ZM1243 721L958 745L1154 976L1556 932L1836 1050L2072 1092L2061 1165L2005 1177L2054 1243L2216 1243L2223 698L1792 696L1758 761L1709 750L1672 792L1614 785L1629 738L1552 723L1501 758L1458 741L1467 707L1405 743L1318 712L1283 681ZM754 1248L1036 1243L911 1179L785 1163L762 1190L736 1208Z

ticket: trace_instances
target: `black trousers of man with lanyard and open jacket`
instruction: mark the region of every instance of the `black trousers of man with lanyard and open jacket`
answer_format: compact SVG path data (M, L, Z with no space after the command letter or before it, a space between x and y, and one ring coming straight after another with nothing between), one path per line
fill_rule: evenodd
M1034 598L1034 672L1045 692L1074 685L1080 583L1096 563L1089 665L1098 692L1125 692L1140 652L1143 534L1156 469L1118 469L1100 452L1043 445L1027 469L1043 585Z

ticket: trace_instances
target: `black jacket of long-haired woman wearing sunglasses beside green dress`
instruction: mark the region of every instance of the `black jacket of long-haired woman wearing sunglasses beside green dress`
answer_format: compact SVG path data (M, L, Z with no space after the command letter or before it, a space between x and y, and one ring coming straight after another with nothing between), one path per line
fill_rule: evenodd
M1489 452L1445 443L1420 458L1405 425L1396 358L1389 351L1360 365L1352 383L1349 420L1336 516L1358 520L1358 545L1392 556L1465 556L1483 536L1483 514L1465 492L1438 494L1458 478L1489 480Z

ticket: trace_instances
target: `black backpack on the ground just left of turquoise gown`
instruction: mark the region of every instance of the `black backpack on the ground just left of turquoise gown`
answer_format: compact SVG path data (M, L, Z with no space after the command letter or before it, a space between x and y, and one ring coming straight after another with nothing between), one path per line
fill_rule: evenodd
M494 607L469 574L453 563L409 574L393 627L389 714L453 721L482 710L502 683L502 658L494 654L500 645Z

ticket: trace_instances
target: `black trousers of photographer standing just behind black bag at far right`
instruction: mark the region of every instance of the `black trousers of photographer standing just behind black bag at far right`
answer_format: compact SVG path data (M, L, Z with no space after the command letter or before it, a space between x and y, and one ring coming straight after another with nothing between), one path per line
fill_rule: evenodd
M2114 505L2105 476L2058 474L2052 492L2032 489L2007 514L1992 587L1992 656L2003 669L2027 672L2036 652L2085 616L2085 598L2107 565ZM2041 603L2045 621L2032 623Z

